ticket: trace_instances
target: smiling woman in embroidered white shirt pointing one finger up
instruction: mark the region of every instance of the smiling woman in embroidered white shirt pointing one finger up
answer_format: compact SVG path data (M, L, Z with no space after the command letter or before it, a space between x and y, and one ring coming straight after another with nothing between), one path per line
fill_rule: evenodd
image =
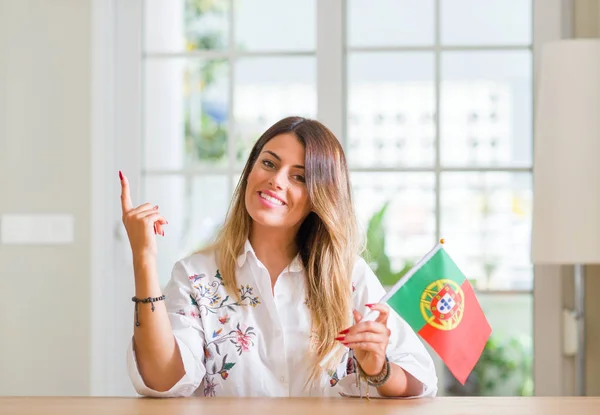
M120 176L139 394L340 396L367 384L372 395L436 394L416 334L375 304L385 291L359 257L345 156L321 123L289 117L259 138L215 244L175 264L166 298L155 234L167 221L157 206L134 208ZM369 310L377 318L361 322Z

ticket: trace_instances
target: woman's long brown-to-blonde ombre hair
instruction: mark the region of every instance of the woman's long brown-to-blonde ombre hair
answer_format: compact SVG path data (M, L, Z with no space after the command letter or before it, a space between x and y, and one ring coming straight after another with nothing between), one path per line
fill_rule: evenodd
M284 133L295 134L304 145L312 205L296 234L296 245L306 274L314 352L309 380L314 382L321 375L320 362L336 346L335 337L351 324L352 269L361 251L346 158L335 135L320 122L300 117L284 118L270 127L250 152L225 223L210 248L216 249L229 294L239 296L236 260L252 224L244 202L248 176L265 144Z

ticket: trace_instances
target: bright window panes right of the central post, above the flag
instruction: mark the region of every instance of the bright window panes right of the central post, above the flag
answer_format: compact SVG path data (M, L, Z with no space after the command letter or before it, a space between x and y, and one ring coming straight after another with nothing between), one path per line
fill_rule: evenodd
M348 0L346 149L395 269L443 237L478 289L531 289L531 8Z

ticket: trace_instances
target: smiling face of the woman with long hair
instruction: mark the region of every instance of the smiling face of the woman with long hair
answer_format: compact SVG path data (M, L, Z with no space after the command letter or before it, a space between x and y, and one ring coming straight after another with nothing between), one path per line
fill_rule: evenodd
M250 217L266 227L299 227L311 210L305 177L304 145L294 134L273 137L248 175Z

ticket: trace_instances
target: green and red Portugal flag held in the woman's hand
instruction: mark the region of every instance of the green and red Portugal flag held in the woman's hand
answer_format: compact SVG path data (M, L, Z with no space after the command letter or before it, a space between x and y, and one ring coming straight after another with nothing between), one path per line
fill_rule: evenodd
M473 288L440 241L382 298L464 384L492 332Z

